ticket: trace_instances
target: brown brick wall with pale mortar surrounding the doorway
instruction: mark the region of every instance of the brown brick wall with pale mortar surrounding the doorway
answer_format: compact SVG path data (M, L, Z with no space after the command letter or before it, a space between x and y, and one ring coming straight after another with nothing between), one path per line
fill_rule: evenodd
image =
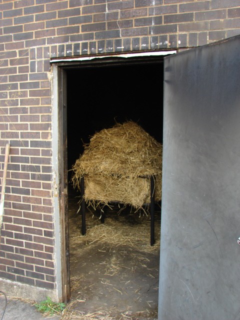
M238 0L0 0L0 277L55 288L51 57L203 45L240 33Z

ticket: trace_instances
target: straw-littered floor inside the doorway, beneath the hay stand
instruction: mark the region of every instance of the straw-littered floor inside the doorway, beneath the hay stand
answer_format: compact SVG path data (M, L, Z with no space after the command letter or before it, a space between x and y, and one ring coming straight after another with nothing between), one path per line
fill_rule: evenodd
M155 209L155 244L143 211L86 210L81 235L79 197L69 194L71 299L62 319L156 319L158 303L160 207Z

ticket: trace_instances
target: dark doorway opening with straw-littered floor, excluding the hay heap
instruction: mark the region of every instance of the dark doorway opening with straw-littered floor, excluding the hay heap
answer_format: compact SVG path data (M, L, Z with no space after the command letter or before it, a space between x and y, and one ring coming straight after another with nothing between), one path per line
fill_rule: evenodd
M81 312L103 312L116 318L157 317L159 246L149 247L149 216L114 207L104 224L86 210L86 236L81 235L80 192L73 187L72 165L91 136L115 123L134 121L162 143L163 59L127 59L66 68L67 179L71 300ZM158 203L159 204L159 203ZM155 209L160 236L160 206ZM97 227L101 233L97 234ZM124 228L122 231L121 227ZM127 229L128 228L128 229ZM133 232L134 230L134 232ZM126 233L145 247L131 245ZM126 233L124 233L126 232ZM90 234L94 235L89 238ZM119 242L117 236L119 235ZM114 241L113 241L114 239ZM142 243L141 243L142 246ZM144 246L144 245L143 245Z

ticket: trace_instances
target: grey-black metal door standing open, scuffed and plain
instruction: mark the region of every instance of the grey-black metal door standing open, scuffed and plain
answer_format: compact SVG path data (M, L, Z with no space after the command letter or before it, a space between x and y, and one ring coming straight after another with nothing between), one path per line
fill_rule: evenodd
M240 319L240 36L164 59L159 320Z

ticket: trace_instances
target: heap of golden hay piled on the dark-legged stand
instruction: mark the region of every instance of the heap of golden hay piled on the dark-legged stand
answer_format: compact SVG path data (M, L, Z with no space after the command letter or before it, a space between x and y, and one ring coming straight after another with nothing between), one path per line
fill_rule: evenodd
M119 201L142 208L150 201L150 175L161 199L162 145L133 121L96 132L72 170L74 187L84 176L84 198L94 207Z

